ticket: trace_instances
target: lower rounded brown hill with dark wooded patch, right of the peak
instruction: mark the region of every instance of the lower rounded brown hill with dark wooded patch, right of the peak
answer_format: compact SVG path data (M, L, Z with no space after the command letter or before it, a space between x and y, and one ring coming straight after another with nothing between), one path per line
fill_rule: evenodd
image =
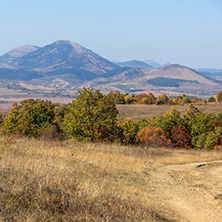
M104 91L160 91L168 95L214 95L221 90L221 82L177 64L158 69L121 68L92 80L90 86Z

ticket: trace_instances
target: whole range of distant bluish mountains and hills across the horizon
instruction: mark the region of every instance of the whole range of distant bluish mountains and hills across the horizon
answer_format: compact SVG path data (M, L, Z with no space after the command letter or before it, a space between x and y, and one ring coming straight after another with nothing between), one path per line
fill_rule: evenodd
M188 67L161 66L149 60L151 66L146 62L114 64L77 43L59 40L44 47L22 46L1 56L0 80L16 81L9 85L14 89L33 88L34 92L47 87L53 95L69 94L82 87L94 87L104 93L156 91L169 95L215 95L221 90L220 81Z

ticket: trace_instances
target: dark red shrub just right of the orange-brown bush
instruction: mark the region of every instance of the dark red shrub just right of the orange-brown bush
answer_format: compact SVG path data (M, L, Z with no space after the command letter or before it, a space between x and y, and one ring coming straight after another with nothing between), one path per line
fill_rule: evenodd
M186 127L174 126L171 130L172 144L179 148L191 148L191 136Z

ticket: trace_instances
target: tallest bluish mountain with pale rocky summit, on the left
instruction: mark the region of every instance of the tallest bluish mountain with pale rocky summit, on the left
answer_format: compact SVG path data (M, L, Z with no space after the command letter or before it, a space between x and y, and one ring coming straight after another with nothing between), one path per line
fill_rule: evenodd
M24 47L22 48L24 49ZM116 64L91 50L65 40L56 41L36 50L33 48L33 51L29 47L30 53L26 53L24 56L14 56L15 58L10 61L5 60L7 56L15 55L15 52L25 53L25 50L19 49L12 50L7 55L0 57L0 78L4 78L1 73L6 73L6 69L8 69L8 72L12 73L10 79L18 79L17 72L20 72L22 75L19 78L22 80L34 79L35 75L44 77L63 74L72 74L77 78L89 80L97 75L119 68ZM13 73L15 73L14 77ZM7 79L8 75L5 78Z

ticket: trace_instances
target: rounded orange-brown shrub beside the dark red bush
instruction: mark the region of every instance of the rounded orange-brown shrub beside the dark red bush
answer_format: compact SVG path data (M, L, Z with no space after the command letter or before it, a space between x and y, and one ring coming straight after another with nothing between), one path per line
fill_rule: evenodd
M136 140L146 147L170 146L171 140L160 127L147 126L138 132Z

